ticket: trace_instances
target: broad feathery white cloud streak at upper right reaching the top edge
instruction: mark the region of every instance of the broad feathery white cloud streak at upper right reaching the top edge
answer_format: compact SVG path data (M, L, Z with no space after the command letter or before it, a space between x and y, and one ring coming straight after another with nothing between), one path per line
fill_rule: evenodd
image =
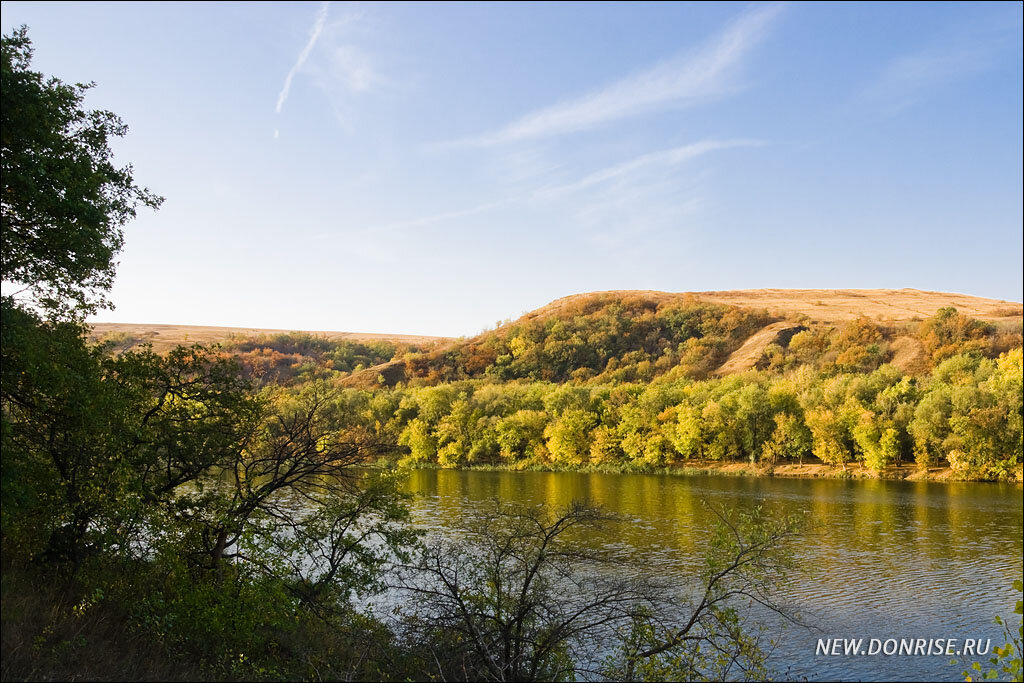
M693 52L676 56L582 97L532 112L490 133L447 144L494 145L595 128L668 106L686 106L737 88L734 74L782 5L748 11Z

